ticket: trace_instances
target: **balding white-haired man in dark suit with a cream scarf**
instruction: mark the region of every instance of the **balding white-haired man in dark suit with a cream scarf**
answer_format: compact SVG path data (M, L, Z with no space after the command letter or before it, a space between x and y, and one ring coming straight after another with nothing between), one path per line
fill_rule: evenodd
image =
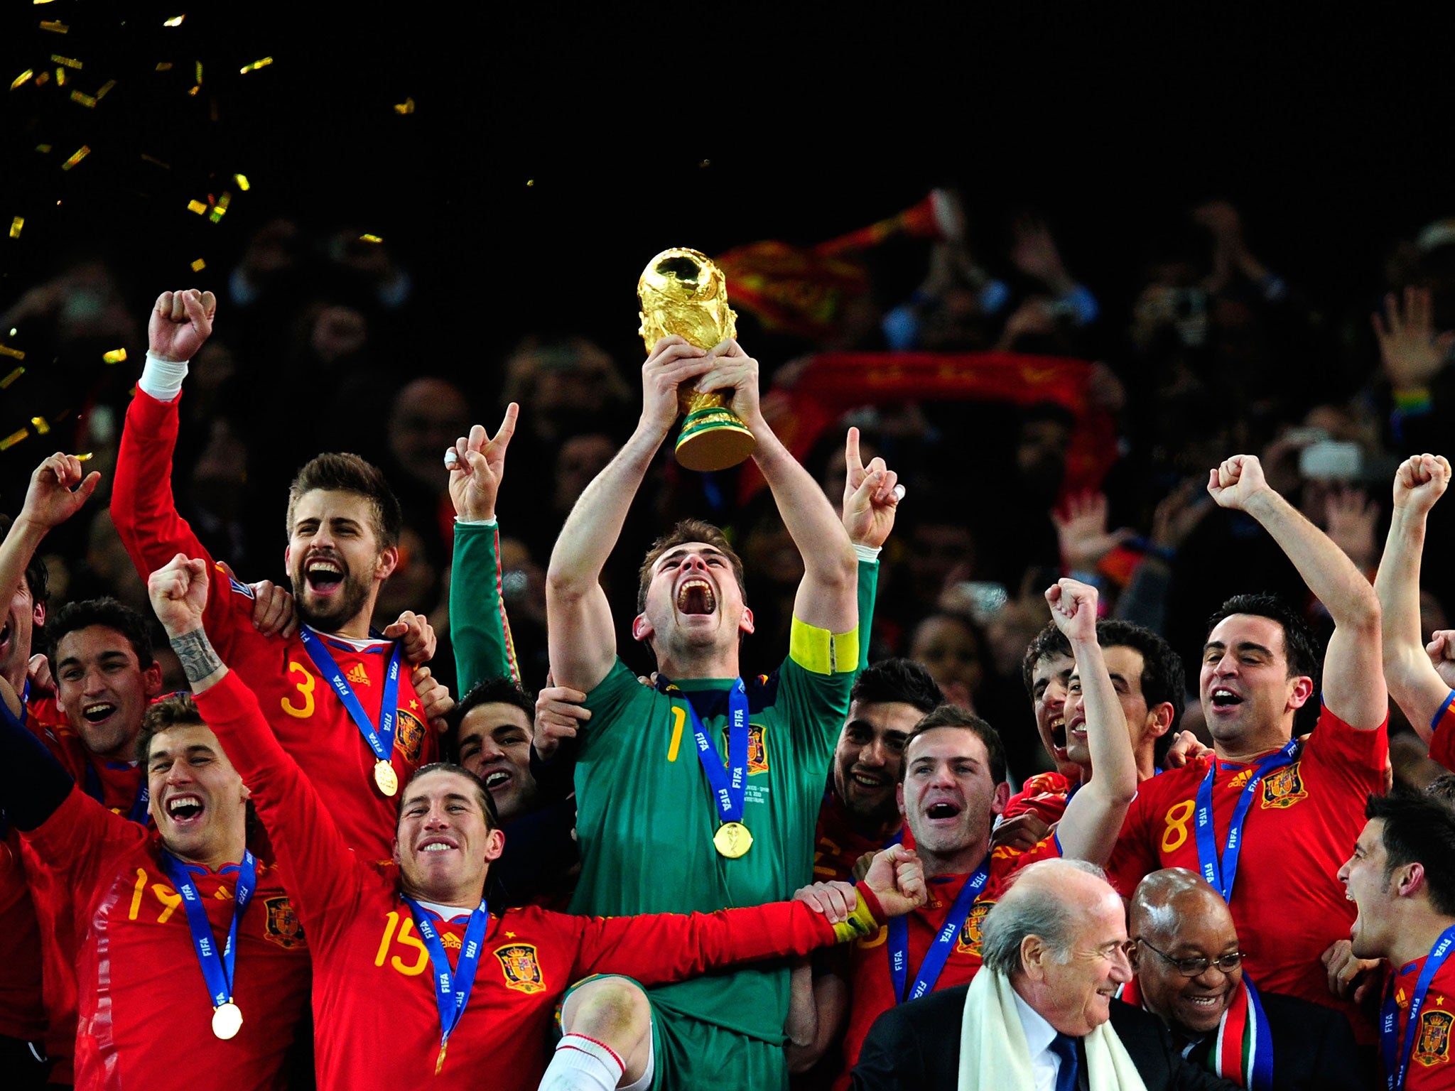
M880 1015L854 1088L1116 1091L1139 1078L1148 1091L1231 1091L1183 1059L1161 1020L1112 998L1132 978L1128 943L1100 868L1032 864L985 918L975 980Z

